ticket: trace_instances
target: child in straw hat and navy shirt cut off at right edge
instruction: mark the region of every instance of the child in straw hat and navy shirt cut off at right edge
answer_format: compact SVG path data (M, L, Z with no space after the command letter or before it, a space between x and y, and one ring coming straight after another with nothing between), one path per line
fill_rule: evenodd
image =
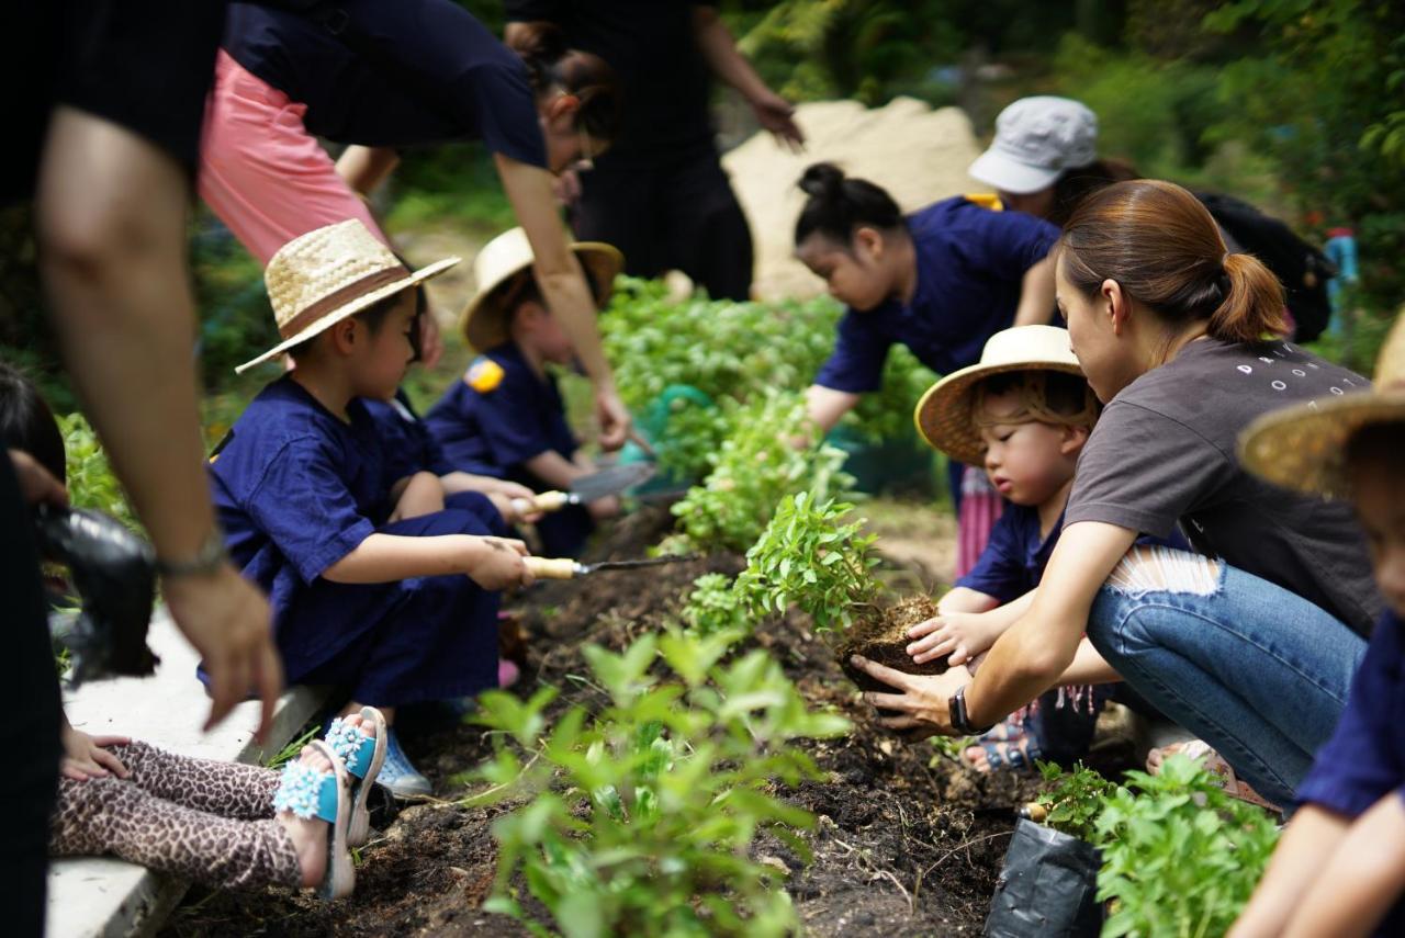
M1405 934L1405 317L1375 388L1266 414L1241 440L1250 472L1345 498L1387 604L1332 739L1232 935Z

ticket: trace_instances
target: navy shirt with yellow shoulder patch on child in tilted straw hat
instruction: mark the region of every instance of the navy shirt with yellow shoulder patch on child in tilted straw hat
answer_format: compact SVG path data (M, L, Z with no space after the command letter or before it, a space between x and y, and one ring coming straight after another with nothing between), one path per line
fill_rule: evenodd
M538 378L514 343L479 355L444 392L424 424L454 469L538 486L523 463L555 451L570 459L576 438L549 375Z

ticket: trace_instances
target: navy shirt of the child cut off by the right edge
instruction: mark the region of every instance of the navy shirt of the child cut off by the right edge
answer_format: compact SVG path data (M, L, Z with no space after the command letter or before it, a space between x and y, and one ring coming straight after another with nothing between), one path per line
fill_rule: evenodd
M1381 616L1346 698L1346 711L1318 750L1298 802L1357 817L1387 795L1405 798L1405 623ZM1397 900L1375 930L1405 934L1405 901Z

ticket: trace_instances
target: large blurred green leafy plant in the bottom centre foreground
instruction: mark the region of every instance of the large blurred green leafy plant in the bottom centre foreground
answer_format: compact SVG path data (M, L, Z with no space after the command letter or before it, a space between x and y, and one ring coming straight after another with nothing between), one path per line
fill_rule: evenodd
M754 650L722 664L735 636L645 636L624 653L584 649L611 705L582 706L548 732L551 688L530 701L492 692L478 722L497 730L471 799L530 798L499 817L497 885L485 906L547 935L514 887L570 938L784 935L799 923L781 873L750 858L769 831L808 857L797 831L813 817L777 798L821 774L792 743L849 729L811 712L780 666ZM662 657L669 673L655 675Z

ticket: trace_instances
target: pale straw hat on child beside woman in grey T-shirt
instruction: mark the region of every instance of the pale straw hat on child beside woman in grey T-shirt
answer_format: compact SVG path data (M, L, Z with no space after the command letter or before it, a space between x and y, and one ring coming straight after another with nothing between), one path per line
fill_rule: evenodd
M917 402L912 413L917 432L957 462L981 465L985 442L974 418L975 386L1012 371L1059 371L1082 376L1083 369L1068 347L1068 330L1055 326L1016 326L985 343L981 362L954 371Z

